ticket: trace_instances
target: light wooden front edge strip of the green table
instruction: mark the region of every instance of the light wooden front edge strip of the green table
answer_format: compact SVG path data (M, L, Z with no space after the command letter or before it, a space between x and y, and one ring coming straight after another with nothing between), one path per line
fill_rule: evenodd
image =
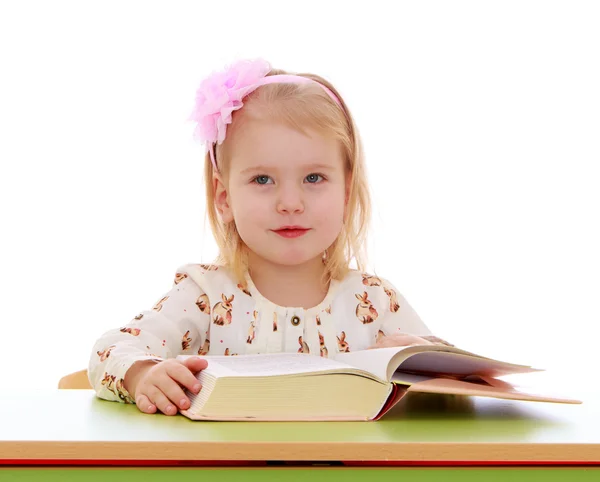
M40 459L600 463L600 444L0 441L0 461Z

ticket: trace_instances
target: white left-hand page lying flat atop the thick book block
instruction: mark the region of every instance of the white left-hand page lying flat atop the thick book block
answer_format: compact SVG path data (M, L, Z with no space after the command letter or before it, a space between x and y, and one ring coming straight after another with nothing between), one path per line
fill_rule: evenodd
M303 353L201 356L199 358L208 361L208 367L204 371L215 377L269 377L320 372L348 373L354 370L342 362Z

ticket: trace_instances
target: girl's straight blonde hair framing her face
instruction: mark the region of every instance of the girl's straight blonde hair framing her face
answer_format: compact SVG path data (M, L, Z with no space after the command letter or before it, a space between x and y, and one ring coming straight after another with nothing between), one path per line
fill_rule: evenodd
M268 75L289 74L273 69ZM364 153L358 130L350 111L337 90L325 79L314 74L296 74L316 80L329 88L340 100L343 110L320 86L309 84L273 83L263 85L244 98L244 106L232 115L227 128L227 137L216 147L215 158L222 179L227 179L230 146L235 132L248 118L262 114L306 133L306 128L317 131L324 137L338 140L342 146L346 175L351 176L347 194L346 217L342 230L327 249L323 262L324 281L340 280L350 271L355 260L358 270L364 271L367 263L366 242L371 222L371 198L365 169ZM210 154L204 161L206 187L206 212L213 236L219 248L215 260L228 268L239 283L245 283L248 270L247 246L241 239L235 222L223 223L215 205L213 165Z

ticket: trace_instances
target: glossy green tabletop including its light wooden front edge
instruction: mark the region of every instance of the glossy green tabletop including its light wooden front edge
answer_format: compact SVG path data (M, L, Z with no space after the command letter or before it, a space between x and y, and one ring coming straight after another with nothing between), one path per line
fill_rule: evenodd
M0 391L0 460L600 463L600 395L580 398L411 394L377 422L193 422L89 390Z

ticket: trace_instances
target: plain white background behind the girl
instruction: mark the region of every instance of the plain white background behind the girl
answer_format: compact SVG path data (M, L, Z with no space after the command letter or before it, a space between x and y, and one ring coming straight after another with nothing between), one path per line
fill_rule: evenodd
M3 386L56 386L212 259L186 119L255 57L347 100L372 266L439 336L599 367L598 25L594 1L0 3Z

